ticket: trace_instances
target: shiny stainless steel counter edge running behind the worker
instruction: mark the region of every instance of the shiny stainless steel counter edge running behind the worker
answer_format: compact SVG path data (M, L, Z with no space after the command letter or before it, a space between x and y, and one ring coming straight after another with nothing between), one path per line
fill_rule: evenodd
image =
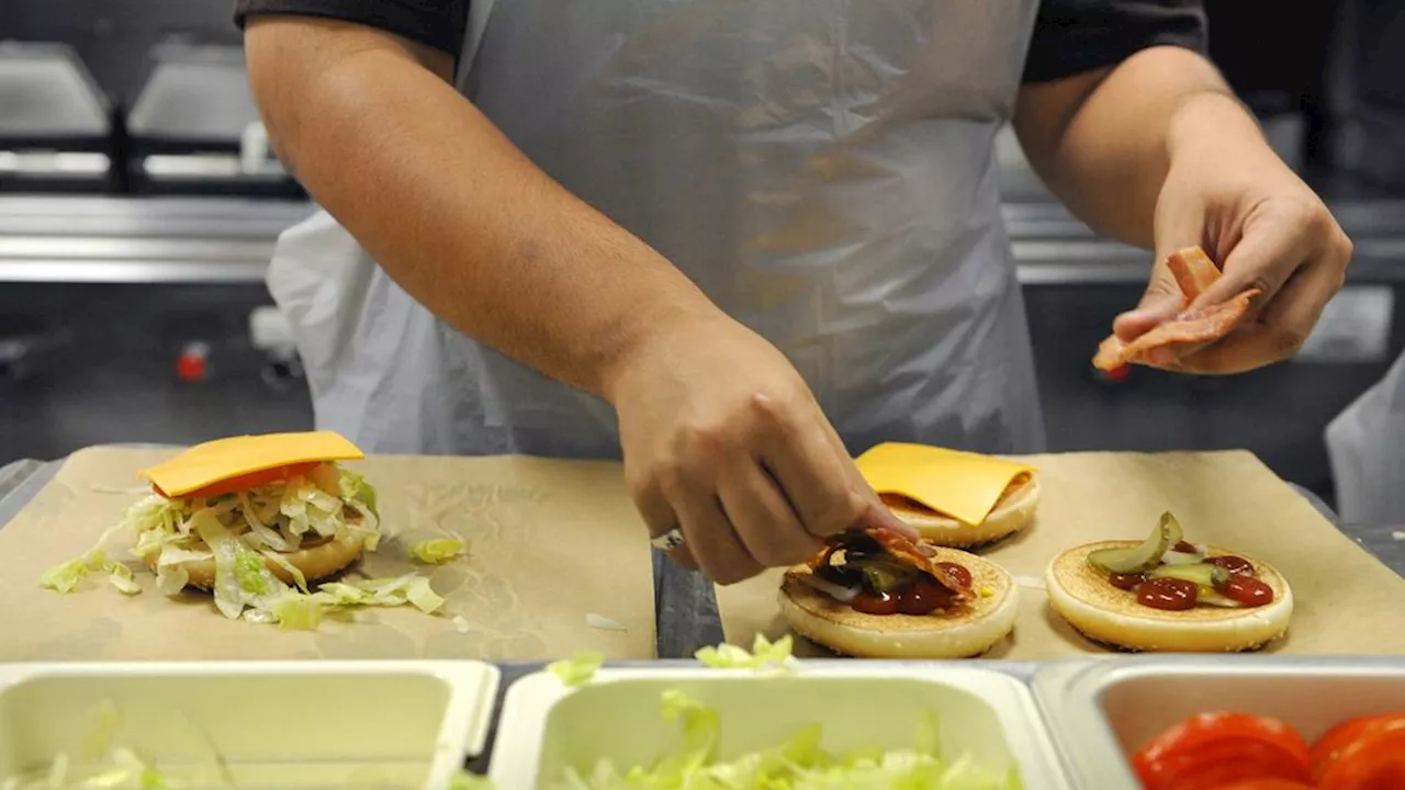
M260 283L278 233L313 207L242 198L0 197L0 283ZM1405 283L1405 200L1333 202L1356 240L1353 280ZM1062 205L1009 204L1020 280L1145 280L1149 254Z

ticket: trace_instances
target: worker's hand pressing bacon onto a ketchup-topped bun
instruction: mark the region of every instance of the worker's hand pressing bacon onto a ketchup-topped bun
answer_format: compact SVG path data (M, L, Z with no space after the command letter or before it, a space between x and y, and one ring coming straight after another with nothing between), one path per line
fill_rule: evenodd
M660 328L606 387L629 493L670 554L718 583L813 557L851 526L916 533L868 486L805 381L726 316Z

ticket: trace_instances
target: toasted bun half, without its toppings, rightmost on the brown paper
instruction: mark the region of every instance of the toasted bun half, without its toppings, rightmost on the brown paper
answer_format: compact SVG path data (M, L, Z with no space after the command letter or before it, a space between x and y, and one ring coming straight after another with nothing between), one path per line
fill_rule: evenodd
M1288 582L1270 565L1238 551L1210 547L1211 557L1234 554L1252 562L1257 578L1273 588L1273 603L1253 609L1197 606L1186 611L1162 611L1137 603L1137 593L1114 588L1087 562L1087 555L1100 548L1135 544L1092 543L1055 557L1044 575L1054 611L1090 640L1148 652L1257 649L1288 630L1293 617Z

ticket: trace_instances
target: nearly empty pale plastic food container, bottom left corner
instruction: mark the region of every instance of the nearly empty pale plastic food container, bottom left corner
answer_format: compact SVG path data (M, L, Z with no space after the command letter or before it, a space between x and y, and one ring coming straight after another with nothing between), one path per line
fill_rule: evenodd
M183 786L222 762L242 789L438 789L482 751L497 685L469 661L0 665L0 786L60 755L70 780L114 768L89 746L107 721Z

